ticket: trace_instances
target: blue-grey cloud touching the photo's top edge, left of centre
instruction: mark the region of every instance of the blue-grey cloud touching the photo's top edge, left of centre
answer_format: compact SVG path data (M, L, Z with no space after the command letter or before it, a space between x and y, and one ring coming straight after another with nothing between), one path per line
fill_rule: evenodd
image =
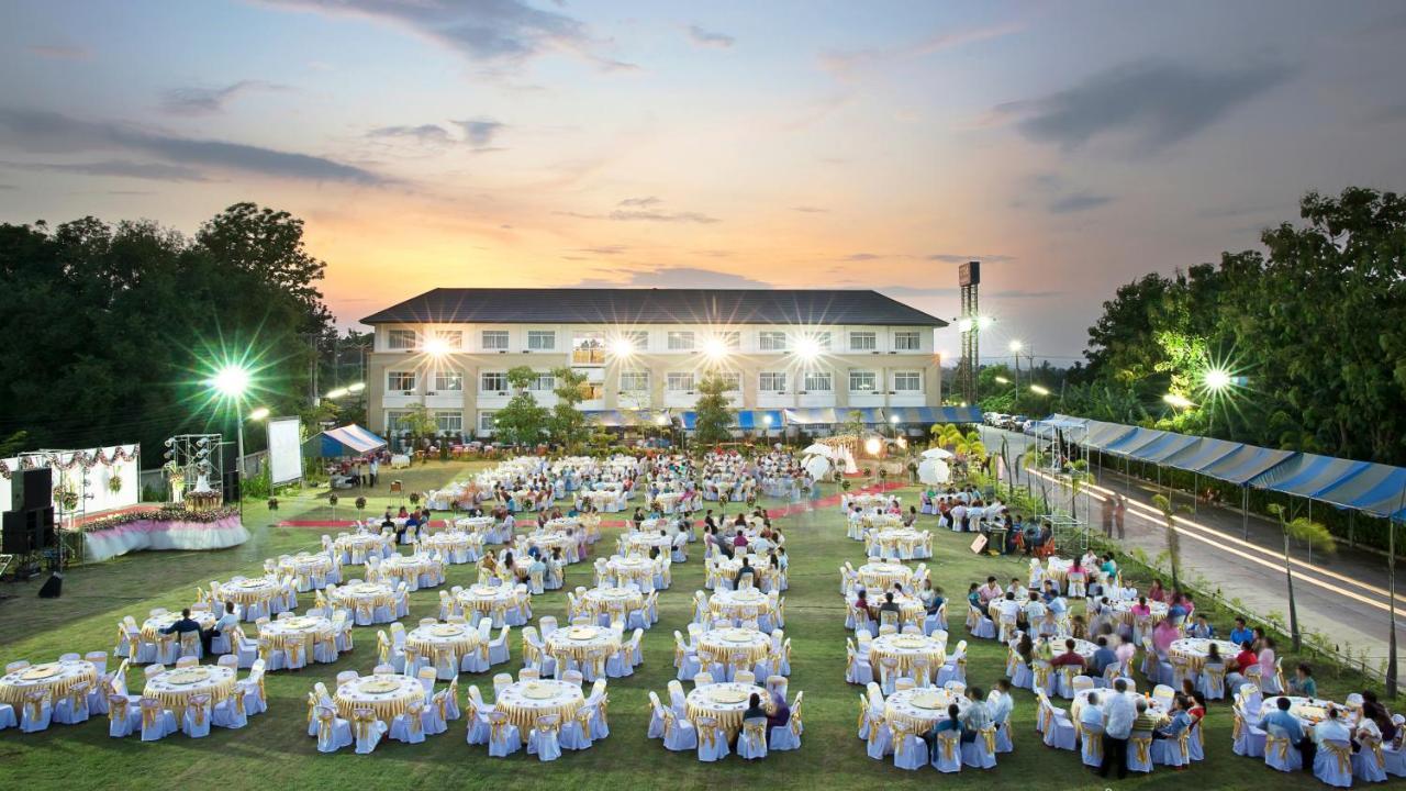
M353 14L391 23L478 62L522 61L595 42L579 20L520 0L392 3L388 0L266 0L287 8Z

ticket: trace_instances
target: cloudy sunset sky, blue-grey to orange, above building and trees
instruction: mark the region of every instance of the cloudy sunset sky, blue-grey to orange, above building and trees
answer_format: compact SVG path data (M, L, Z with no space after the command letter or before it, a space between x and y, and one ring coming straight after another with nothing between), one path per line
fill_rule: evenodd
M872 287L950 318L979 258L984 355L1063 363L1119 283L1256 246L1306 190L1406 186L1391 1L7 0L0 23L0 221L284 208L344 324L571 284Z

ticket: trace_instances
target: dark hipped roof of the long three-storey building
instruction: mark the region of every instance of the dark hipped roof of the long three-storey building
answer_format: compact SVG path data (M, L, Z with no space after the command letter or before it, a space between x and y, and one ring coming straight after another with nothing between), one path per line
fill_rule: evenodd
M364 324L880 324L948 322L877 291L831 289L434 289Z

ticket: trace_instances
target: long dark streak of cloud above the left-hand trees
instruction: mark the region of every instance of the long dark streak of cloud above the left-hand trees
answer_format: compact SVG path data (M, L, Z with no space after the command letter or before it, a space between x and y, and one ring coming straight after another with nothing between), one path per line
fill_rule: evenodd
M180 138L122 124L80 121L59 113L0 108L0 138L32 153L125 151L176 165L240 170L311 182L387 184L377 173L321 156L256 145Z

